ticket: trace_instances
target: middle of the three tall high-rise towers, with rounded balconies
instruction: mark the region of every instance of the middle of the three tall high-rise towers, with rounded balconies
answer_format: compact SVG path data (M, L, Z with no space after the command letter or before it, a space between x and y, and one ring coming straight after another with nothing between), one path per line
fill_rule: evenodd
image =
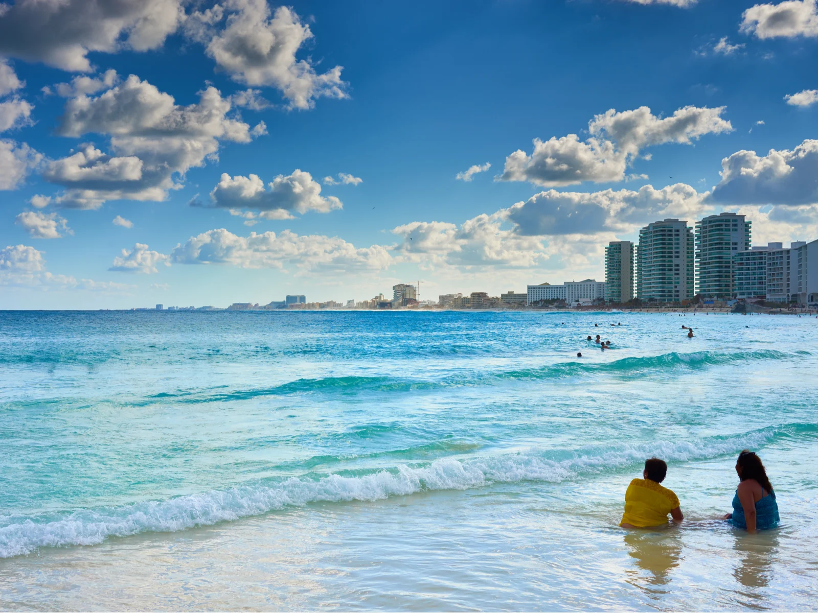
M694 237L687 221L654 221L639 230L636 296L643 301L693 298Z

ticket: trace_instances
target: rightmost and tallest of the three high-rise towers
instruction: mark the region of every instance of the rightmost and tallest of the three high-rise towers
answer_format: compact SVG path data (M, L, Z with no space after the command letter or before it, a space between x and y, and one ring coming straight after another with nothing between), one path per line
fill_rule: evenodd
M704 298L729 299L735 295L733 254L750 248L752 223L736 213L696 221L696 289Z

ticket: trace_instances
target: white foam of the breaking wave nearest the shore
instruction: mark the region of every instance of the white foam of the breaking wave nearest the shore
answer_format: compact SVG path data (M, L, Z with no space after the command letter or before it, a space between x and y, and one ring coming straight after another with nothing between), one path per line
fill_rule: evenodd
M723 438L658 441L607 450L444 458L422 465L402 464L356 477L337 474L291 477L275 483L240 485L118 508L78 510L52 521L0 517L0 523L6 524L0 527L0 557L31 553L41 547L99 544L109 536L185 530L307 503L378 500L424 490L466 490L492 482L559 482L632 466L652 455L682 462L716 458L745 447L757 448L792 428L767 427Z

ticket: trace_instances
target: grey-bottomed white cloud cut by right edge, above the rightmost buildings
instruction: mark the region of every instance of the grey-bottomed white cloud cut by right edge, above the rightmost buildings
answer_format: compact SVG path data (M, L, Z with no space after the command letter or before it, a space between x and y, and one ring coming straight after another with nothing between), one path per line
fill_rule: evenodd
M721 181L710 200L723 204L818 203L818 141L803 141L793 150L771 149L764 156L736 151L721 160Z

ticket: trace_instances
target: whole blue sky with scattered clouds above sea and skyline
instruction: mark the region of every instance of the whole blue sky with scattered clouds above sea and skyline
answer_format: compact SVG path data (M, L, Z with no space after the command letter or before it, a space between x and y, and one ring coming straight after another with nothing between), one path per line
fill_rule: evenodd
M818 238L815 2L0 7L0 308L496 295L722 210Z

